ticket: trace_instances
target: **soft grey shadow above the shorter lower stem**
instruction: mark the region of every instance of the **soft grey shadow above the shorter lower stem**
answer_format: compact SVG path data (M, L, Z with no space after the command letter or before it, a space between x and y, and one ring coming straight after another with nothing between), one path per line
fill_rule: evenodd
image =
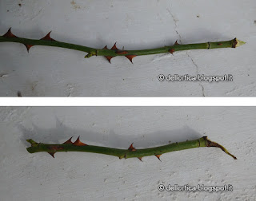
M134 143L136 148L150 148L174 142L196 140L202 137L202 134L187 126L168 131L149 132L139 136L136 133L123 136L122 134L115 133L114 130L110 130L109 133L100 133L86 129L69 128L58 119L56 120L56 128L45 129L39 128L36 125L34 125L32 130L22 125L18 128L22 131L22 143L26 145L30 145L26 142L27 139L33 139L36 142L46 144L62 144L70 139L71 136L74 136L73 142L80 136L80 140L85 144L111 148L129 148L130 144Z

